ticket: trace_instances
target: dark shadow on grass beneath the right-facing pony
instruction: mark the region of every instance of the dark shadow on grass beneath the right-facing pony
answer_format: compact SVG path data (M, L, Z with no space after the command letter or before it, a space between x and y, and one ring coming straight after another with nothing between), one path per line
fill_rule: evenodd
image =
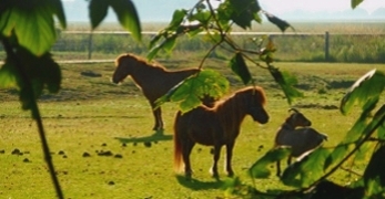
M186 187L191 190L210 190L210 189L221 189L224 186L224 181L215 180L215 181L200 181L197 179L188 179L184 176L176 175L175 176L178 182Z

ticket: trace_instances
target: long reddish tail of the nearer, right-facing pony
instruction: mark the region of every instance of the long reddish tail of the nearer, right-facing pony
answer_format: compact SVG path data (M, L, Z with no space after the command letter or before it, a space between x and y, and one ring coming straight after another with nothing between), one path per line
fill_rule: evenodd
M175 122L174 122L174 170L178 174L183 172L184 161L182 154L182 144L180 139L179 132L179 117L181 116L181 112L176 113Z

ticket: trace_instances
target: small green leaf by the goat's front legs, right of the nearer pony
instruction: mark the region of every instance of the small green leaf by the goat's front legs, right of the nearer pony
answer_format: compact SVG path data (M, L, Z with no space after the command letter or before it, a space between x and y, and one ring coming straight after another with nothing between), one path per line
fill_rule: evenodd
M271 165L288 157L290 153L291 149L288 147L280 147L269 150L249 169L250 176L253 178L267 178L271 175Z

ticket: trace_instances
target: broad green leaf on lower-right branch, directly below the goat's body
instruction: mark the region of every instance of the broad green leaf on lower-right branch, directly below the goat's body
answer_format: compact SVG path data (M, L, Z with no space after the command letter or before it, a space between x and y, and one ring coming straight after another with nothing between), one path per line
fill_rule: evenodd
M308 187L318 180L324 174L324 164L330 150L326 148L317 148L307 157L296 161L287 167L281 180L286 186L293 187Z

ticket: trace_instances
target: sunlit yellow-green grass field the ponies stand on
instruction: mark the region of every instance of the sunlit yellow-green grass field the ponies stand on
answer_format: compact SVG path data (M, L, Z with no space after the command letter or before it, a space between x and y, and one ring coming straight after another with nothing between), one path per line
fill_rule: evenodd
M170 69L196 66L196 60L162 60ZM221 71L232 90L241 87L226 64L210 60L205 69ZM276 63L298 78L305 96L294 106L330 136L325 147L335 146L355 122L353 113L343 116L340 100L355 80L372 69L385 72L385 64ZM210 177L210 147L195 146L192 154L193 181L173 171L172 124L175 104L165 104L163 136L154 135L148 102L131 80L116 86L110 83L112 63L63 64L62 90L44 94L40 102L43 124L60 184L67 199L77 198L221 198L223 181ZM243 123L234 148L235 174L252 184L246 169L273 146L276 129L287 116L283 93L262 69L251 69L267 93L271 121L259 125L250 117ZM100 77L81 75L92 71ZM20 108L13 90L0 91L0 198L54 198L53 186L42 156L40 138L28 112ZM383 97L384 101L384 97ZM20 153L18 153L19 150ZM223 153L222 153L223 154ZM221 158L221 167L223 165ZM348 167L348 165L346 165ZM362 174L363 167L352 168ZM220 170L221 179L225 175ZM344 184L356 176L337 171L333 180ZM275 176L256 180L259 190L287 188Z

